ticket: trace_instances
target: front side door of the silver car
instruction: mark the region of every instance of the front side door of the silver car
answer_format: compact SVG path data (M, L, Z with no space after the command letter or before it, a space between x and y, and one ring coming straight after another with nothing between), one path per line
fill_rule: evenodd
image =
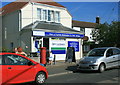
M115 65L115 55L113 55L113 49L108 49L106 52L106 65L107 68L113 67Z

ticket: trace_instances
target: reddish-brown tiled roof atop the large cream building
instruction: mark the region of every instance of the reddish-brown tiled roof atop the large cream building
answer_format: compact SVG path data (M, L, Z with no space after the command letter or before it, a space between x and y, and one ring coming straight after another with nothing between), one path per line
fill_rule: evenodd
M29 0L16 0L15 2L12 2L2 8L0 8L0 15L5 15L5 14L8 14L8 13L11 13L11 12L14 12L16 10L20 10L21 8L23 8L25 5L28 4L28 1ZM47 4L47 5L52 5L52 6L57 6L57 7L63 7L65 8L64 6L52 1L52 0L31 0L31 2L34 2L34 3L41 3L41 4Z

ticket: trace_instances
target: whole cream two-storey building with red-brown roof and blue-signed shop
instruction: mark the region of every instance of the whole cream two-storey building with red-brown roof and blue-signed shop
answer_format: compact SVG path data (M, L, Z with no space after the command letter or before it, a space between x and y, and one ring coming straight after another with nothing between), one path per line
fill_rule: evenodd
M2 8L2 46L12 50L21 46L27 53L46 47L65 60L69 48L76 59L82 57L84 33L72 29L72 16L64 6L50 2L12 2Z

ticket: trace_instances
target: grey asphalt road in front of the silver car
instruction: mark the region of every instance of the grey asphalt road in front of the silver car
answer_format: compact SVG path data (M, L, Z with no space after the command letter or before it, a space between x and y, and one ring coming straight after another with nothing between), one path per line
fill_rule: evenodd
M119 68L108 69L103 73L75 71L75 66L68 68L71 68L71 71L51 74L46 83L111 83L113 85L120 82Z

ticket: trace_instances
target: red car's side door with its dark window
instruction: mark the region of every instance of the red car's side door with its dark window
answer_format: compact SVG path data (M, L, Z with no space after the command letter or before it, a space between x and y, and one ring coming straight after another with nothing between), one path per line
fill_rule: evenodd
M30 62L24 57L7 54L5 58L5 69L7 69L6 83L21 83L33 81L35 78L34 65L28 65Z

